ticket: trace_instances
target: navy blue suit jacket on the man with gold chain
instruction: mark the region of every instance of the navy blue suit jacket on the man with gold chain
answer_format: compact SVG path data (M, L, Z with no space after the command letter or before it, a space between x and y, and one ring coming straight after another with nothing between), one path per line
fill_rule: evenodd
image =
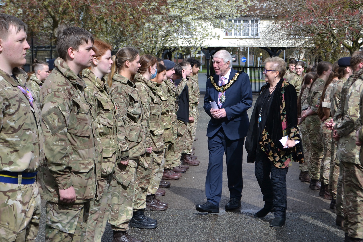
M228 82L232 80L236 73L236 70L231 69ZM218 85L219 76L213 75L213 78ZM217 103L218 94L219 92L214 89L211 80L207 79L207 92L204 96L203 108L209 116L211 116L212 108L209 101ZM246 73L242 72L238 75L233 85L225 91L225 97L226 100L220 108L224 108L227 116L221 119L215 119L211 116L207 128L207 136L212 137L223 127L223 131L228 139L244 138L249 127L249 118L246 111L252 106L251 84Z

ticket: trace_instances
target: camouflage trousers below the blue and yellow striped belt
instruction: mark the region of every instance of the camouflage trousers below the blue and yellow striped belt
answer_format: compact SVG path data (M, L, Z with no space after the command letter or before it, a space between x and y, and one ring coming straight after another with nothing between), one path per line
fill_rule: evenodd
M35 241L40 222L37 183L0 182L0 241Z

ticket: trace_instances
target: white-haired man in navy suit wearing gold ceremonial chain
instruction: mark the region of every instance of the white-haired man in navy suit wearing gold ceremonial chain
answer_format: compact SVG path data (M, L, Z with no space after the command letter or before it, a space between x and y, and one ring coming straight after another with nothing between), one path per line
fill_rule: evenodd
M220 50L213 56L216 72L207 80L204 110L211 120L207 128L209 163L205 179L207 202L197 204L199 212L219 213L222 196L223 154L227 157L227 176L230 200L226 210L240 208L242 197L242 151L249 127L247 110L252 106L249 77L232 67L232 56ZM214 85L213 85L214 84ZM212 109L215 101L219 109Z

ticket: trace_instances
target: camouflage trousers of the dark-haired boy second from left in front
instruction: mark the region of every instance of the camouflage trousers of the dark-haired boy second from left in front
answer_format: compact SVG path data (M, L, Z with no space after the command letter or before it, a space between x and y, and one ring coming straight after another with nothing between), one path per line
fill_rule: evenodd
M45 241L83 241L90 201L80 204L46 202Z

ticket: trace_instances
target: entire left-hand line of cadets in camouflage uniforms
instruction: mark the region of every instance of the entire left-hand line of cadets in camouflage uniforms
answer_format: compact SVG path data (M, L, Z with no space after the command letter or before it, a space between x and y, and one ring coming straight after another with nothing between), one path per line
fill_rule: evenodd
M0 14L0 241L36 238L41 198L45 241L101 241L107 221L114 242L143 241L129 225L156 228L143 211L168 208L156 198L164 180L199 165L201 63L132 47L111 56L85 29L60 26L59 57L35 61L28 78L26 30Z

